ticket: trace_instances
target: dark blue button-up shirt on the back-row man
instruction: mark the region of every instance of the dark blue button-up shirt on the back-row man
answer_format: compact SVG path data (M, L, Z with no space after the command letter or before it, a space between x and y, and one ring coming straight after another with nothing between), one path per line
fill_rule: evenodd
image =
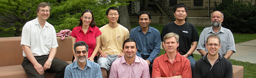
M161 38L156 28L149 26L148 32L144 34L140 26L135 27L130 31L129 38L136 41L138 48L136 55L138 57L152 63L160 54Z

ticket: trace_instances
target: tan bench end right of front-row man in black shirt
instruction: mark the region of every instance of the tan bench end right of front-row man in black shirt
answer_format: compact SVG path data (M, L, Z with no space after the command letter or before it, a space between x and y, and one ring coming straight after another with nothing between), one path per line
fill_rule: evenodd
M233 78L243 78L244 76L244 67L243 66L233 66Z

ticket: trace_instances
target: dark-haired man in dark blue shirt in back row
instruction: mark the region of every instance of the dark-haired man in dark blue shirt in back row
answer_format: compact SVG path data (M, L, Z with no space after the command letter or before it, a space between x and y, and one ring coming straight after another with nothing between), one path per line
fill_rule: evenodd
M152 68L153 61L160 54L161 38L159 31L150 27L151 14L145 11L138 15L140 26L133 28L130 31L129 38L137 42L138 50L136 55L143 58Z

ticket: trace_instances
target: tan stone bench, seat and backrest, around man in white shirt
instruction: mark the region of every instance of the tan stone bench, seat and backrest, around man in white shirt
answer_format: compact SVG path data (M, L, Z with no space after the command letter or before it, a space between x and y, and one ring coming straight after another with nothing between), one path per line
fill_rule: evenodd
M55 57L71 64L73 57L71 37L61 40L57 37L58 45ZM21 37L0 38L0 78L28 78L21 63L23 61ZM54 78L56 73L45 73L45 78Z

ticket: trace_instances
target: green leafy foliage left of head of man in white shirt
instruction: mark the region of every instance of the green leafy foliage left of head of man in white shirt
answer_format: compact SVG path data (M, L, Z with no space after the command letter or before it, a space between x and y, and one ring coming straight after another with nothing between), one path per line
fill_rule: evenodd
M0 30L14 32L15 36L20 36L24 24L35 18L36 6L40 2L54 1L56 0L0 0L0 16L15 21L14 25L0 22Z

